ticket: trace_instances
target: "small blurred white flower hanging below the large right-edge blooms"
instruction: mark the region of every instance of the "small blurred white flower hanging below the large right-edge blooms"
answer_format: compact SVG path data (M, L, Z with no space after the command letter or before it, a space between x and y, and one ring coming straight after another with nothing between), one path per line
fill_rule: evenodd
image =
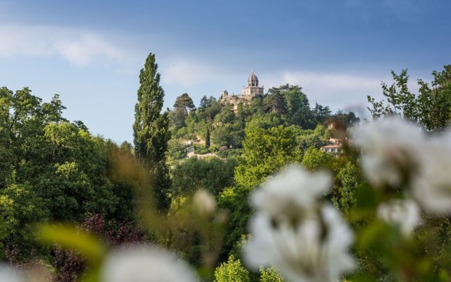
M404 236L412 235L421 222L420 209L413 200L390 200L379 204L377 214L379 219L399 225Z

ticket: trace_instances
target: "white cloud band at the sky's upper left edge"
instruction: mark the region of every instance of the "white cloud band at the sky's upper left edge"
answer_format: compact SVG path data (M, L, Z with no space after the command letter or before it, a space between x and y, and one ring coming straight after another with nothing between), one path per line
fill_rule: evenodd
M0 26L0 56L61 56L76 66L121 60L124 52L96 32L69 27Z

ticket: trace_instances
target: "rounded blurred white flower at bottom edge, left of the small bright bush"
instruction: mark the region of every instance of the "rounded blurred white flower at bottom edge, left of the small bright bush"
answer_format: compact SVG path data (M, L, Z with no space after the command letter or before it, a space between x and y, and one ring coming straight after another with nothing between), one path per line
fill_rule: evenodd
M190 266L175 255L149 245L113 251L101 268L104 282L194 282Z

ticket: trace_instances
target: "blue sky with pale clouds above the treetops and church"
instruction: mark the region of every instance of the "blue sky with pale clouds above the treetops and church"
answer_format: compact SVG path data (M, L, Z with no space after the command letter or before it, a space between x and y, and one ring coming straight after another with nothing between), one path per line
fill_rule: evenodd
M165 106L190 94L299 85L310 104L366 113L390 70L451 63L449 0L0 0L0 86L58 93L69 120L132 141L138 75L156 54Z

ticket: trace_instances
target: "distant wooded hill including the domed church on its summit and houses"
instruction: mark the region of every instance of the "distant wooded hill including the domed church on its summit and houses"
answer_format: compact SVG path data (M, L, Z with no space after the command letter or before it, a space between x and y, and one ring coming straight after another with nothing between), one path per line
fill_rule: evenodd
M237 157L243 147L247 126L262 128L292 126L297 130L299 148L315 147L333 154L340 154L342 135L337 134L359 118L353 113L338 111L333 114L328 106L311 107L307 95L297 85L281 85L264 92L259 78L252 71L247 85L240 94L227 90L221 96L202 97L199 107L189 94L177 97L171 117L172 160L186 157Z

